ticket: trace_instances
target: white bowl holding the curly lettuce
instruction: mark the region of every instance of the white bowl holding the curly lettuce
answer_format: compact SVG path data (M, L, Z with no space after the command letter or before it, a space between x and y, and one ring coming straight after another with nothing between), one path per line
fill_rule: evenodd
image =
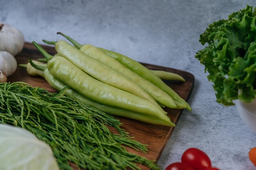
M235 104L243 122L256 133L256 99L251 103L236 100Z

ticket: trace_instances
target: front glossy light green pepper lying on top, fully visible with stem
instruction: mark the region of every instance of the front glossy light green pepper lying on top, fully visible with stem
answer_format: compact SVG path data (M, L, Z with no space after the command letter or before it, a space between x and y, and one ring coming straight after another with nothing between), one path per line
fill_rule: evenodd
M33 42L33 44L48 60L47 68L49 72L85 97L102 104L154 115L163 121L171 123L170 118L148 100L94 79L66 58L58 55L53 57L36 42Z

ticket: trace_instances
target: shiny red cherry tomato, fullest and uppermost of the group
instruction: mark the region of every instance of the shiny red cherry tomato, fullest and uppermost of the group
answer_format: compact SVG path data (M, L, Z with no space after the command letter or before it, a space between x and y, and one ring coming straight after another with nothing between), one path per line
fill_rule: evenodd
M202 150L197 148L189 148L186 150L181 161L188 163L195 170L205 170L206 168L211 168L211 160Z

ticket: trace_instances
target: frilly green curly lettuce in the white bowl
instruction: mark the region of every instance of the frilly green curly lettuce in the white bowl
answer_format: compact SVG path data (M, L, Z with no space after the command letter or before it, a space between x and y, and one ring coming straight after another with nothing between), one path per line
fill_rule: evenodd
M196 53L213 89L217 102L230 106L239 99L252 102L256 98L256 10L245 9L208 26L200 35L202 45Z

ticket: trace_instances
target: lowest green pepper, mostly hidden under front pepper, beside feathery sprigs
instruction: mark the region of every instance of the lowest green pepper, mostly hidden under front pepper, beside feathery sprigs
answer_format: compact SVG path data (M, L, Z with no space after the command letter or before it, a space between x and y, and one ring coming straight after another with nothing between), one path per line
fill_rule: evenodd
M63 88L68 87L66 84L61 82L59 79L56 79L49 72L45 63L36 62L36 64L37 64L36 65L33 62L35 62L35 61L34 60L29 60L29 63L28 64L22 64L22 67L28 66L29 69L31 69L31 67L32 67L33 71L34 71L33 75L37 75L36 73L40 73L40 71L43 70L43 74L44 74L43 77L57 91L61 91ZM45 68L38 68L38 65L39 66L44 66ZM28 73L31 73L31 72L28 72ZM175 126L175 124L173 124L172 122L168 123L168 122L163 121L162 119L159 119L158 117L155 117L155 116L152 116L152 115L137 113L137 112L133 112L131 110L126 110L126 109L123 109L123 108L117 108L117 107L114 107L114 106L109 106L109 105L101 104L99 102L95 102L94 100L91 100L91 99L81 95L77 91L74 91L72 88L67 88L65 90L65 95L71 97L72 99L76 99L79 102L82 102L83 104L86 104L86 105L92 106L94 108L97 108L97 109L99 109L99 110L101 110L105 113L110 114L110 115L127 117L127 118L131 118L131 119L139 120L139 121L144 121L144 122L150 123L150 124L158 124L158 125L164 125L164 126L169 126L169 127L174 127Z

